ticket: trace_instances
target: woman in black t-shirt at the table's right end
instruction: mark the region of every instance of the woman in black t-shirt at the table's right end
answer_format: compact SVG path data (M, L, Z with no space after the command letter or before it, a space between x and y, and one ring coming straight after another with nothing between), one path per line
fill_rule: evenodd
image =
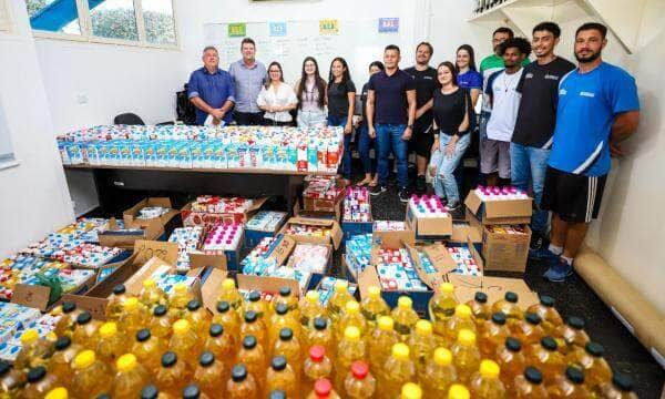
M356 85L351 80L349 65L341 57L330 62L327 88L328 126L344 127L344 156L338 173L344 184L351 184L351 137L354 133L354 112L356 106Z

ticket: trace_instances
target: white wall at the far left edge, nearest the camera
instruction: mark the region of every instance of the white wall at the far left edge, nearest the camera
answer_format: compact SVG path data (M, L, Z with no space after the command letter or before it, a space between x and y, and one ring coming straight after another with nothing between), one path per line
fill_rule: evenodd
M0 258L73 221L25 4L0 34L0 98L19 166L0 171Z

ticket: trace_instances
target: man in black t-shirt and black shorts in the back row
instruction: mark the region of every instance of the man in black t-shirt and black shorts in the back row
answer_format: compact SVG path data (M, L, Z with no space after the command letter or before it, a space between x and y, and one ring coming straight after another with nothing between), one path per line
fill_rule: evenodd
M437 90L437 70L429 65L434 49L428 42L421 42L416 48L416 65L407 68L405 72L413 76L416 81L416 123L413 123L413 136L410 142L410 151L416 152L418 166L418 180L416 191L424 193L427 185L424 174L427 163L432 150L434 136L432 132L432 95Z

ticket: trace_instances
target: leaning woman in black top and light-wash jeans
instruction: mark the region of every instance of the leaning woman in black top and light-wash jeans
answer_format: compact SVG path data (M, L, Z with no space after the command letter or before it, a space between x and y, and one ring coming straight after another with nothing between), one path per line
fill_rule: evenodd
M454 170L460 164L470 143L469 113L471 96L468 89L457 83L457 68L446 61L437 69L441 89L434 91L434 144L430 168L433 168L434 192L448 201L451 212L460 207L460 193Z

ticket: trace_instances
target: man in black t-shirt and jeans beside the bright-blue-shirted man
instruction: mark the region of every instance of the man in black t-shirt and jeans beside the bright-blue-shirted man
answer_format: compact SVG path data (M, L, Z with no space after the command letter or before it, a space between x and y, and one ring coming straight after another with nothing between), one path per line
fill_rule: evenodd
M533 186L536 207L531 221L531 257L538 257L539 249L548 248L549 215L540 204L556 123L559 82L575 69L573 63L554 54L560 34L561 29L554 22L542 22L533 28L532 50L536 60L524 66L516 88L522 100L510 145L511 178L521 190L529 190L530 182Z

